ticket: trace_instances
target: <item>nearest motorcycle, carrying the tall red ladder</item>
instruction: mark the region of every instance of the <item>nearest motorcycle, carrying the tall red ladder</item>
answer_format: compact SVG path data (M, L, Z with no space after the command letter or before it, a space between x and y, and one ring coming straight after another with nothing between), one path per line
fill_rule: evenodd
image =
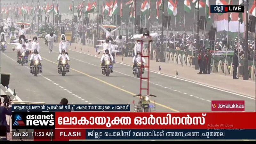
M149 94L149 95L134 95L133 97L139 96L139 102L138 104L135 106L134 105L134 111L135 112L152 112L152 111L156 111L156 103L154 101L154 105L150 105L150 100L149 100L149 96L151 97L156 97L155 95Z

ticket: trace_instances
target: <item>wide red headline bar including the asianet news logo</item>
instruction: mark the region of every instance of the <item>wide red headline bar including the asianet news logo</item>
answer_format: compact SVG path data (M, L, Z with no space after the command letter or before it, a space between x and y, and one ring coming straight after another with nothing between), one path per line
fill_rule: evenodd
M256 129L256 112L12 112L12 129Z

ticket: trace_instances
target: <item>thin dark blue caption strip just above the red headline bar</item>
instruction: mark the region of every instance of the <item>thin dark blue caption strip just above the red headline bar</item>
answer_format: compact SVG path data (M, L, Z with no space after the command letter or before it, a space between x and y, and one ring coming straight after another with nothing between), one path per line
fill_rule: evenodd
M42 111L130 111L130 105L27 105L13 104L13 112Z

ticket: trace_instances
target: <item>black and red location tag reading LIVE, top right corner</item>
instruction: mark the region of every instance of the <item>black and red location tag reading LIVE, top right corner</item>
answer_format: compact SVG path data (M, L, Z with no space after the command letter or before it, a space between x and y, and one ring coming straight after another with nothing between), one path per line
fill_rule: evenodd
M211 13L244 12L244 5L211 5Z

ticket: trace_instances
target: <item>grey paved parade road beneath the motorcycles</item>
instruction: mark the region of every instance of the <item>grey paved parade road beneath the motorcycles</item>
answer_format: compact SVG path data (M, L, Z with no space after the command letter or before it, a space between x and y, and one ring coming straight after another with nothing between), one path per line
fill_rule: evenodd
M58 44L55 44L58 45ZM53 53L40 42L43 58L42 76L29 73L29 66L16 62L16 52L8 45L1 52L1 72L11 72L9 87L23 101L43 101L58 104L67 98L70 104L131 104L138 100L139 79L132 76L132 67L115 64L109 77L101 75L100 59L84 53L68 51L71 72L66 76L57 73L59 48ZM146 86L146 82L143 82ZM245 111L255 111L255 100L222 92L179 79L150 72L150 94L156 98L156 111L211 111L211 100L245 100ZM132 110L132 108L131 108Z

